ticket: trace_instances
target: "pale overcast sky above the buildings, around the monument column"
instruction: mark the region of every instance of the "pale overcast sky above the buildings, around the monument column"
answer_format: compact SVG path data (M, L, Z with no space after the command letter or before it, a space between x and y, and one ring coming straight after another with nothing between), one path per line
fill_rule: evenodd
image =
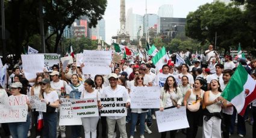
M198 9L199 5L211 3L213 0L147 0L147 13L157 14L158 8L163 4L173 5L173 17L186 18L190 11ZM146 13L146 0L126 0L125 14L129 8L133 8L134 14ZM108 0L104 14L105 19L105 41L111 44L111 37L117 35L120 29L120 0Z

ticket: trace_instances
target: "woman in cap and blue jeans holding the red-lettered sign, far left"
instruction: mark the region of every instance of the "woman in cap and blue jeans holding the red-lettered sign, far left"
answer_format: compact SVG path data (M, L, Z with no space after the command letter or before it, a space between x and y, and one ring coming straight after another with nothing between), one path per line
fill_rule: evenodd
M23 94L20 94L20 91L22 89L22 83L20 82L15 82L11 84L11 96L10 97L14 97L14 96L21 96ZM19 105L21 105L21 103L25 103L28 106L28 110L31 110L31 105L30 105L30 101L28 100L27 97L27 101L24 102L19 102ZM8 123L9 125L9 129L10 129L10 133L11 133L11 137L27 137L28 136L28 130L30 129L30 116L29 114L27 115L27 121L26 122L10 122Z

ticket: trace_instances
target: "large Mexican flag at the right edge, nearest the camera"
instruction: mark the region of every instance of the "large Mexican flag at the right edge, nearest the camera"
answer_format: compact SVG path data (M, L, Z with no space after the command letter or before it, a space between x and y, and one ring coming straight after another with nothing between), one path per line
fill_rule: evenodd
M256 82L241 64L226 85L222 97L230 101L242 116L248 104L256 98Z

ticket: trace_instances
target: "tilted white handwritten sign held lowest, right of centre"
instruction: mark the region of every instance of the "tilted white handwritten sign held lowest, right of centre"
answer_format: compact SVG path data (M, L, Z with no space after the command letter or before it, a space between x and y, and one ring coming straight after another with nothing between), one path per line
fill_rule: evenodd
M172 108L155 112L157 117L157 127L159 132L179 130L182 128L188 128L189 122L187 122L186 107L182 106L179 109ZM170 125L172 124L172 125Z

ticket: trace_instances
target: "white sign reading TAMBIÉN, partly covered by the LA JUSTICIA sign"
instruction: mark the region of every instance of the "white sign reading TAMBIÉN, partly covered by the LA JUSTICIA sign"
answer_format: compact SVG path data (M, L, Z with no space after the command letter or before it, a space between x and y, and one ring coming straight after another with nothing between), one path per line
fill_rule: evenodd
M81 118L73 116L70 99L61 98L59 125L82 125Z

